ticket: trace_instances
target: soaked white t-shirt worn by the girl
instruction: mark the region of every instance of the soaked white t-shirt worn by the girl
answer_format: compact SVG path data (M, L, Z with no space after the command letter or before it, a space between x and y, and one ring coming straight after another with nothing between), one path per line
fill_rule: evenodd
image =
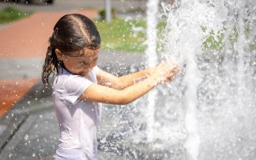
M60 143L55 159L97 159L97 125L101 104L78 99L92 83L97 83L96 66L88 78L64 68L53 83L54 109L60 127Z

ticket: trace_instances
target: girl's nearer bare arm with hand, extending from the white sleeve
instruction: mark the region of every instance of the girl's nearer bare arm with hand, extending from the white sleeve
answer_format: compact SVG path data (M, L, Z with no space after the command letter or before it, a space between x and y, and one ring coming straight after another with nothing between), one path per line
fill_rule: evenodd
M178 70L177 67L168 68L163 63L154 70L152 76L148 76L147 79L131 84L122 90L116 90L115 88L109 88L100 84L91 84L79 99L107 104L129 104L158 84L164 81L171 81L177 71L179 71L179 68Z

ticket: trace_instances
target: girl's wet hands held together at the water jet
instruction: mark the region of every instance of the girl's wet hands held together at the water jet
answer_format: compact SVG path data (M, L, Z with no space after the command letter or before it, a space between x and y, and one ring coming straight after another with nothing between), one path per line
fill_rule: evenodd
M155 76L159 83L172 81L175 77L175 74L179 72L182 68L177 65L171 65L166 61L162 61L155 68L152 76Z

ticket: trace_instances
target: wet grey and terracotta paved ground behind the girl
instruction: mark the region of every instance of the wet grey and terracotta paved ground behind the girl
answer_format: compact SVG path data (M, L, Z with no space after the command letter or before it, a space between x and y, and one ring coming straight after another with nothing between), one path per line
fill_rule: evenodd
M58 124L52 88L44 86L40 80L47 39L56 21L65 13L82 13L93 18L98 12L70 8L54 12L41 10L0 28L1 159L53 159L58 144ZM100 51L99 67L120 75L143 66L142 60L143 54ZM104 116L108 117L103 113L102 119ZM99 159L114 158L124 159L99 151Z

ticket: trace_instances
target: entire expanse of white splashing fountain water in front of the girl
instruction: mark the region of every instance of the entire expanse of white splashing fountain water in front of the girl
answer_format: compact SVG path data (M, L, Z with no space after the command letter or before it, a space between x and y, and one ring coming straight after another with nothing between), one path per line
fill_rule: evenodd
M168 60L184 67L184 75L177 76L170 87L157 86L156 93L128 108L113 107L112 119L122 122L113 137L123 138L116 140L125 155L131 159L255 159L255 3L162 3L162 15L168 19L164 38L159 40L158 1L148 1L148 66ZM157 50L159 54L157 43L164 46Z

